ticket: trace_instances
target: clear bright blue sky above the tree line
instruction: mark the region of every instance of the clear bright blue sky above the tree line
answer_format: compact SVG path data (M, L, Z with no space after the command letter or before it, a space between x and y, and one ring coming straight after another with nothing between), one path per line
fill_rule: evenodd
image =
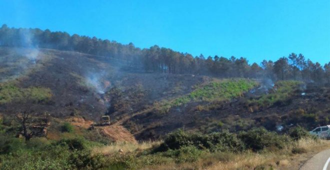
M330 61L330 0L0 0L2 23L249 63Z

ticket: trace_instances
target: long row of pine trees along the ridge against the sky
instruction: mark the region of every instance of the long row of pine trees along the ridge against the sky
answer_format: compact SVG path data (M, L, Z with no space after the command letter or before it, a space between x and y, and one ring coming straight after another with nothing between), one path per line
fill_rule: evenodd
M244 77L276 80L301 80L318 85L330 84L330 62L324 65L312 62L301 53L289 53L276 61L248 63L243 56L192 56L189 53L153 45L138 48L133 43L121 44L96 37L69 35L67 32L39 28L0 27L0 46L51 48L69 50L98 56L103 59L123 61L135 71L198 74L217 78Z

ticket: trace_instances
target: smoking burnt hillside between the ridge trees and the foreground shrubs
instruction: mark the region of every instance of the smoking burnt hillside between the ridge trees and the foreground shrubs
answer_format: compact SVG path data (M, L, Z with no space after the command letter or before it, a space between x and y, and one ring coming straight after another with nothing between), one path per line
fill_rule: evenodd
M54 49L2 47L0 59L5 115L25 109L15 100L33 96L39 115L98 122L108 114L137 140L177 128L209 133L329 123L329 88L315 84L148 73L122 60Z

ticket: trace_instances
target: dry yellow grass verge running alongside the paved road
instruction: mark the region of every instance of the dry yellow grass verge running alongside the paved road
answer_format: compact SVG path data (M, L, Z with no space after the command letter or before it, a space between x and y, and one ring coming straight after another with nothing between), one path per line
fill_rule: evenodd
M307 153L292 154L293 147L302 147ZM149 166L145 169L296 169L301 161L305 161L313 154L329 148L329 140L300 139L294 145L280 151L262 151L255 153L246 151L243 153L206 153L194 163L170 163L160 166ZM297 159L297 161L296 161Z

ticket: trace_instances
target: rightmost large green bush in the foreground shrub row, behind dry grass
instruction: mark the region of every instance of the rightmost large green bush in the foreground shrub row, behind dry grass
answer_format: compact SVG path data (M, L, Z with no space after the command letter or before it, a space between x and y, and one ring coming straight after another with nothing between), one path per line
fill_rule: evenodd
M245 143L247 148L253 151L259 151L264 148L282 149L289 142L289 138L286 136L267 131L264 127L241 131L238 134L238 138Z

